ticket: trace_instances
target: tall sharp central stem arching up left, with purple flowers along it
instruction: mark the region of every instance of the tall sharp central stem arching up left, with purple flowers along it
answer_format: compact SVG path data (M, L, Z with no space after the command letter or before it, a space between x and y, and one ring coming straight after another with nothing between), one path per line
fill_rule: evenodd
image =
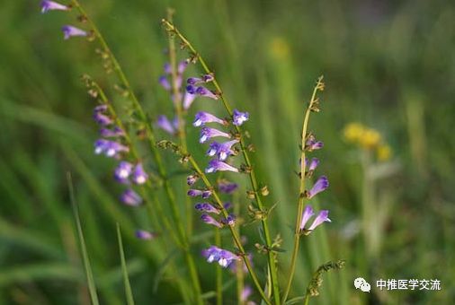
M183 34L174 26L174 24L172 22L168 22L166 20L163 20L162 22L165 24L166 28L169 31L173 31L174 34L177 35L183 41L183 44L187 48L189 48L192 51L192 53L198 58L198 60L201 63L202 68L204 69L204 71L207 74L210 74L211 71L209 69L209 66L205 63L204 59L196 51L196 49L192 47L192 44L190 43L190 41L183 36ZM219 83L218 83L218 81L217 81L217 79L215 77L213 79L213 85L215 86L217 92L219 92L219 96L221 98L221 101L223 102L224 107L226 108L226 110L228 112L228 115L232 117L232 109L229 106L228 100L226 100L224 94L222 94L221 87L220 87L220 85L219 85ZM236 128L237 134L242 135L240 126L235 126L235 128ZM258 207L258 209L261 212L263 212L264 211L263 203L262 203L261 197L258 194L257 179L256 179L256 176L255 176L255 173L254 173L254 169L252 167L252 163L251 163L251 161L249 159L249 156L248 156L248 153L247 153L247 150L246 150L246 147L245 147L245 140L244 140L243 136L240 136L240 147L241 147L244 159L245 159L245 164L250 169L249 179L250 179L250 183L251 183L251 185L253 187L253 190L254 190L254 197L255 197L255 200L256 200L256 203L257 203L257 207ZM272 248L272 239L271 239L271 236L270 236L270 231L269 231L269 227L268 227L266 219L265 218L262 219L261 222L262 222L262 225L263 225L263 233L264 233L264 237L265 237L265 243L266 243L267 248L269 249L267 257L268 257L269 267L270 267L270 271L271 271L273 297L274 297L275 304L279 305L280 304L280 287L278 285L278 272L277 272L277 267L276 267L276 264L275 264L275 255L274 255L274 253L271 250L271 248Z

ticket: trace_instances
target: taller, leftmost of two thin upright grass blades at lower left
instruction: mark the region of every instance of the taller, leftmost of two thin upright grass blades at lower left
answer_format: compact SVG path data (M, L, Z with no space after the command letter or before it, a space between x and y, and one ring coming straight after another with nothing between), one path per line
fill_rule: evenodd
M73 212L75 213L77 234L81 243L82 258L84 260L85 274L87 275L88 290L90 292L90 299L92 304L98 305L98 295L96 294L96 287L94 284L94 274L90 266L90 259L88 258L87 248L85 247L84 233L82 232L81 220L79 218L79 212L77 210L75 192L73 189L73 181L71 180L71 173L67 172L67 183L69 190L69 197L71 199L71 205L73 205Z

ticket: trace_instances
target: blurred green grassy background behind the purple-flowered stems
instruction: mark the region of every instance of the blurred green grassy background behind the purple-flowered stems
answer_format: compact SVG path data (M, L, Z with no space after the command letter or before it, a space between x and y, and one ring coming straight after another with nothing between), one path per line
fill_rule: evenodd
M60 28L76 24L75 14L43 15L39 4L0 4L0 304L89 303L67 170L73 173L103 303L124 303L115 222L124 232L137 303L178 303L172 286L160 283L158 290L153 289L160 264L143 253L155 246L133 237L146 221L117 200L120 189L112 181L112 160L93 154L94 101L79 76L91 74L114 94L112 85L90 43L63 40ZM321 296L312 301L450 304L455 300L451 129L455 4L425 0L82 4L154 118L172 113L172 103L156 80L166 61L167 39L160 20L166 7L175 8L175 23L206 57L228 99L251 113L246 126L256 146L254 166L271 190L267 205L278 204L272 233L281 232L283 248L288 250L280 260L283 278L297 209L295 170L303 101L309 99L317 76L325 75L323 111L312 116L310 129L326 144L317 153L318 174L326 174L331 187L319 200L321 208L330 209L333 222L302 242L293 296L305 292L308 276L317 266L343 258L345 268L326 274ZM212 100L197 101L190 116L197 109L221 111ZM362 168L358 149L343 141L343 126L352 121L377 129L392 147L392 159ZM197 131L189 127L189 134L191 149L202 154ZM174 164L173 159L169 164ZM178 164L171 166L178 169ZM176 187L183 178L174 180ZM365 186L370 186L369 194ZM365 206L371 221L366 228L379 236L371 253L361 233ZM199 223L196 229L208 230ZM246 230L251 240L247 248L254 251L255 225ZM195 245L193 252L198 254L201 247ZM213 290L213 267L201 257L196 261L201 274L208 274L202 279L204 291ZM373 288L365 296L353 288L357 276L371 283L379 278L439 279L442 290ZM225 279L229 277L227 272ZM236 300L230 292L227 304Z

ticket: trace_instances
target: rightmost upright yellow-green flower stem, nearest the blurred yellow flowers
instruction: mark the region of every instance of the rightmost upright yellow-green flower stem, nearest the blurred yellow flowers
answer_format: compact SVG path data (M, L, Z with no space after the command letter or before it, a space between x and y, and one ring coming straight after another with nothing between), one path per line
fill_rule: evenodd
M317 80L317 84L313 90L313 94L311 95L311 99L308 102L307 110L305 111L305 118L303 120L302 126L302 134L301 134L301 154L300 154L300 187L299 187L299 202L298 202L298 211L296 217L296 227L294 231L294 248L292 249L292 257L290 258L290 274L289 280L286 285L286 290L284 291L282 302L286 302L288 295L290 293L290 287L292 285L292 280L294 278L294 272L297 263L297 257L299 256L299 241L300 241L300 222L302 219L303 213L303 204L305 202L305 172L307 162L305 161L305 144L307 140L307 132L308 132L308 122L309 122L309 114L311 113L311 109L313 108L314 103L317 101L317 91L323 90L324 84L322 83L323 77L319 77Z

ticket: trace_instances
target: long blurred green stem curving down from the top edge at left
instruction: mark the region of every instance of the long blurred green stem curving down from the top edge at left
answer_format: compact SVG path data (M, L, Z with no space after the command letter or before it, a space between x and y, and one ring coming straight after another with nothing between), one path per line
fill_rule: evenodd
M129 81L126 77L126 75L123 73L123 70L121 69L121 66L119 62L117 61L117 58L114 57L111 48L107 45L105 39L103 38L103 35L101 34L100 30L96 27L92 19L88 16L87 13L85 13L84 8L79 4L77 0L72 0L72 4L76 9L81 13L86 22L90 25L92 30L94 31L94 36L100 41L100 44L102 45L104 52L108 55L108 57L112 61L113 68L115 72L117 73L120 82L123 84L125 87L125 90L129 93L129 100L132 101L134 108L138 111L138 117L139 119L144 123L146 131L147 131L147 137L148 137L148 142L150 144L150 149L152 151L152 155L154 157L158 173L164 181L164 187L165 187L165 194L169 199L169 204L171 205L171 211L172 215L174 218L175 225L177 226L177 231L180 235L180 240L183 243L183 251L185 253L185 258L188 264L188 268L190 270L190 275L192 277L192 285L193 289L195 292L195 298L198 304L203 304L202 298L201 298L201 283L199 281L199 276L197 273L197 270L194 265L194 259L192 258L192 254L190 252L189 248L189 243L188 243L188 238L185 235L185 231L183 229L183 222L180 219L180 215L178 213L178 208L175 202L175 197L174 193L172 191L172 188L169 184L169 181L167 179L167 174L165 171L164 163L161 159L161 155L158 153L156 149L156 137L152 129L152 125L149 124L149 119L147 118L146 113L144 112L144 109L142 109L142 106L140 105L138 98L136 97L136 94L133 92L131 89L131 86L129 85Z

